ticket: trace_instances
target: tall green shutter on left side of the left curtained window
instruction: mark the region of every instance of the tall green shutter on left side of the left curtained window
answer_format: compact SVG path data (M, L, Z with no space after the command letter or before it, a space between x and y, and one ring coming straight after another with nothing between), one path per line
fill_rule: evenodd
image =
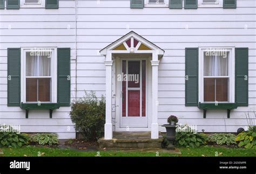
M8 48L8 106L21 105L21 48Z

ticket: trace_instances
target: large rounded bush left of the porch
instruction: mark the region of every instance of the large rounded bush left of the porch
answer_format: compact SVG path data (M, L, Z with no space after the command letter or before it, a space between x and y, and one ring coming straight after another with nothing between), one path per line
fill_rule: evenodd
M98 140L104 134L105 98L97 99L94 91L85 92L85 97L71 104L70 118L77 132L86 140Z

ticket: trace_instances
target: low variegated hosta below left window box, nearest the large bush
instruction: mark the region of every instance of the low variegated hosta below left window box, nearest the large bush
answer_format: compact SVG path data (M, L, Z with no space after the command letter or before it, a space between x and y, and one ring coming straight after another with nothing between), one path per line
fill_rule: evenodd
M33 142L38 142L40 145L52 145L58 144L58 135L52 133L38 133L31 136Z

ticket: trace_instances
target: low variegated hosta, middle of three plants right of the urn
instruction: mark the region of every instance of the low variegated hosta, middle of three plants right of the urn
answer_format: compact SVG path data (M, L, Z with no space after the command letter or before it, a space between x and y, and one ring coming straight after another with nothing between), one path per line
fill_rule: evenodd
M208 137L208 141L215 142L218 145L223 145L223 144L236 144L235 142L235 135L234 134L225 134L225 133L217 133L210 135Z

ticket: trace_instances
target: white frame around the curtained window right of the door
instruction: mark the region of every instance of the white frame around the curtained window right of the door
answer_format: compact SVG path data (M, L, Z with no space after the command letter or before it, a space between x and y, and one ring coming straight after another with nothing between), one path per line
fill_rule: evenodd
M227 49L229 53L228 57L228 102L218 103L234 103L235 100L235 48L234 47L201 47L199 48L199 60L198 60L198 102L200 103L215 103L204 102L204 52L207 49Z

